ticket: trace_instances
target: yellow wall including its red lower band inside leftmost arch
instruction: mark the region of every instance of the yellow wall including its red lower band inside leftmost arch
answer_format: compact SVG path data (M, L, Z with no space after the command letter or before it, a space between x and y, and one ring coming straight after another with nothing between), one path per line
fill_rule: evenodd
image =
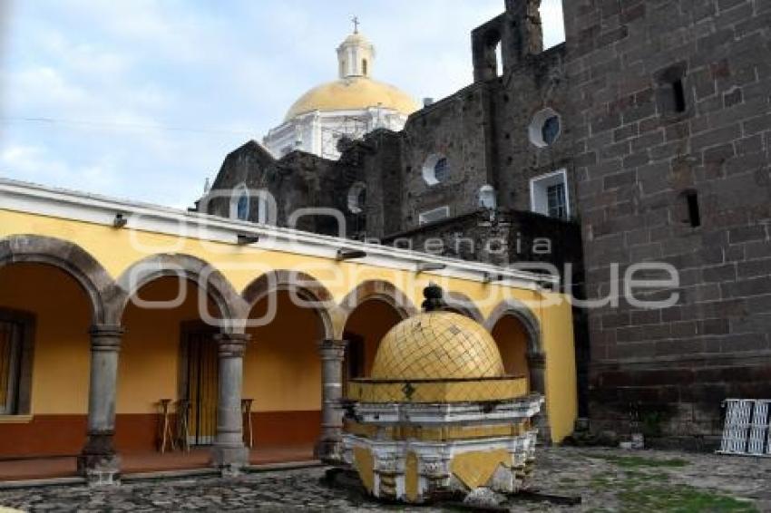
M77 453L88 411L88 296L52 266L14 264L0 267L0 308L35 321L32 417L0 420L0 456Z

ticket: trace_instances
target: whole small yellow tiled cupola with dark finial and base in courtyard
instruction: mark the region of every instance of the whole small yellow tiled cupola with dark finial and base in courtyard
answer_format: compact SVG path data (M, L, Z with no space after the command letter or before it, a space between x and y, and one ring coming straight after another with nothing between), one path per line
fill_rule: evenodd
M385 334L372 376L349 382L343 458L380 498L514 492L532 465L543 399L505 374L482 325L444 311L441 288L425 298L423 314Z

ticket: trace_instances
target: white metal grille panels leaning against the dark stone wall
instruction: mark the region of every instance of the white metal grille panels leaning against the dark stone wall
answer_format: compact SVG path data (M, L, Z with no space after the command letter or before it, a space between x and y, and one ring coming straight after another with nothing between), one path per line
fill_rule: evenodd
M771 457L771 416L767 399L728 399L720 454Z

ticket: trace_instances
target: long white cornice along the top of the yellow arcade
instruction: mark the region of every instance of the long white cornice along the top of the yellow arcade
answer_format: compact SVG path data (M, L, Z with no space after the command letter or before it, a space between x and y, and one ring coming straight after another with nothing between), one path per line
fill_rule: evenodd
M421 264L442 264L444 269L427 271L425 275L449 276L475 282L498 276L498 286L539 289L542 285L556 286L558 278L507 269L477 262L467 262L395 247L366 244L338 237L328 237L291 228L272 227L235 219L220 218L161 207L126 199L108 198L67 189L44 187L11 179L0 179L0 209L36 214L53 218L73 219L112 227L115 215L121 213L128 223L123 229L189 237L238 246L239 234L258 236L259 242L249 245L265 249L324 257L334 260L340 248L362 250L366 257L351 262L368 266L417 272Z

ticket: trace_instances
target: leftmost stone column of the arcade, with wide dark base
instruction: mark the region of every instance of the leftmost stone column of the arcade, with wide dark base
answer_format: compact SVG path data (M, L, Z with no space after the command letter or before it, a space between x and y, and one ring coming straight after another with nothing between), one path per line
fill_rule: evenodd
M112 484L120 478L121 465L112 439L115 435L115 393L123 328L99 324L92 327L90 334L88 440L78 456L78 473L93 484Z

